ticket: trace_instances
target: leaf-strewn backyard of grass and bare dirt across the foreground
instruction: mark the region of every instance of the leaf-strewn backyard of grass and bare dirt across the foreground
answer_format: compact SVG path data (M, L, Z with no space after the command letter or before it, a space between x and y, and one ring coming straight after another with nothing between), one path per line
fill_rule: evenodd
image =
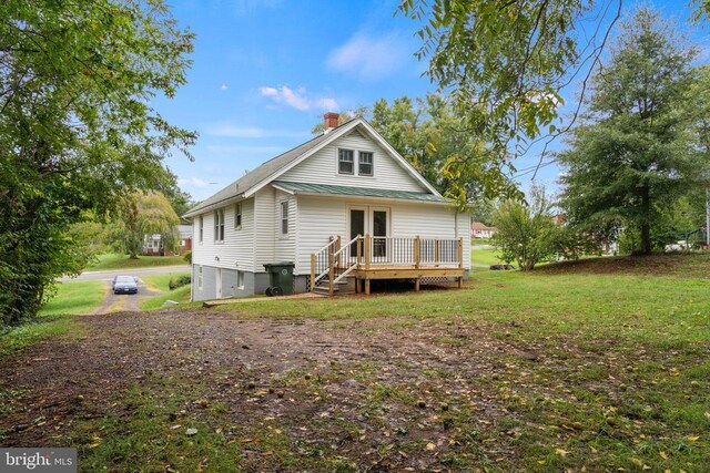
M33 378L59 361L0 362L40 392L6 394L0 443L77 446L85 471L708 471L708 267L598 258L464 290L92 317L91 363L54 369L91 379L68 384L71 414Z

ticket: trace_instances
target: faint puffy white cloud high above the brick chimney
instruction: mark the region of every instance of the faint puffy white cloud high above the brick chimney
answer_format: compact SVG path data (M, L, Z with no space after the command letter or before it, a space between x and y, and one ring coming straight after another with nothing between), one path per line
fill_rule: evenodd
M331 52L328 68L355 74L362 80L377 80L394 74L412 58L406 37L392 32L371 37L356 33L345 44Z

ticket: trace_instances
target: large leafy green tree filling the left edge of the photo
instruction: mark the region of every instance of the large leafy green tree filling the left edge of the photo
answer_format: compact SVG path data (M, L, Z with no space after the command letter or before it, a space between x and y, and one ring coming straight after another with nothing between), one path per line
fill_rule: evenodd
M0 38L0 315L17 323L85 264L73 223L165 187L164 156L190 156L195 134L151 102L185 82L193 35L162 0L8 0Z

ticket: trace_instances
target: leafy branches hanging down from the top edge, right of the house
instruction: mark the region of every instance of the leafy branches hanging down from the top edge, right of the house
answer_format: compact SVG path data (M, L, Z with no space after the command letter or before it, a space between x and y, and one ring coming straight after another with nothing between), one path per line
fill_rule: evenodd
M710 2L692 3L694 21L706 21ZM505 173L537 142L539 167L547 145L575 123L581 101L564 122L560 93L580 82L584 97L621 7L622 0L400 0L398 11L422 23L417 58L428 60L427 74L452 95L469 133L488 143L491 169ZM456 167L466 175L468 165ZM481 176L487 195L497 192L491 176Z

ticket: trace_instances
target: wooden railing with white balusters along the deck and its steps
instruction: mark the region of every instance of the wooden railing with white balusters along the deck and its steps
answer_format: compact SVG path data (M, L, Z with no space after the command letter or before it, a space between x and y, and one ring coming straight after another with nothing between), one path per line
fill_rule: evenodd
M377 237L357 235L343 245L339 236L311 255L311 291L328 277L333 285L356 269L377 266L464 267L463 238Z

